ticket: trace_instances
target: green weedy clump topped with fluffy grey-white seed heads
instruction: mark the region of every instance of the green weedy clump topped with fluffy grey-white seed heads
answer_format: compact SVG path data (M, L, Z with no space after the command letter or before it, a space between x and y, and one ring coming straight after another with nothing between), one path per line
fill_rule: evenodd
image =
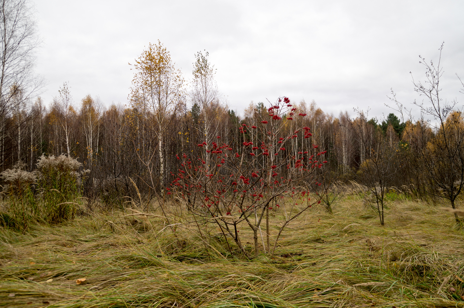
M4 202L0 224L27 229L29 221L61 223L76 215L82 195L82 179L89 170L78 172L82 164L65 155L42 155L37 170L22 170L17 163L13 169L0 174L3 180Z

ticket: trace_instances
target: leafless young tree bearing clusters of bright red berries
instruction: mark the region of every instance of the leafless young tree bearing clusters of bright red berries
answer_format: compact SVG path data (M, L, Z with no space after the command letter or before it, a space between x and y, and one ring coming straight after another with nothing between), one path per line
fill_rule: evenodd
M286 144L299 134L304 134L304 138L311 136L309 128L299 128L291 134L283 133L285 125L298 113L292 107L287 97L279 98L267 109L264 117L257 115L261 118L258 126L242 124L239 128L242 141L236 148L221 142L220 136L211 144L206 141L198 144L200 148L210 148L206 155L211 167L206 164L206 155L176 155L180 168L173 173L174 180L167 187L168 194L182 200L197 222L216 224L226 240L232 237L247 257L250 256L241 243L238 230L242 223L253 231L254 252L258 255L258 233L266 251L261 229L264 214L276 208L284 212L284 222L274 239L273 252L284 228L320 203L320 196L311 199L309 187L318 185L314 171L327 163L322 161L326 151L319 152L317 145L312 151L300 151L299 156L291 156L286 151ZM299 113L299 116L305 114ZM253 134L249 134L251 130ZM265 220L269 252L269 215L265 216Z

